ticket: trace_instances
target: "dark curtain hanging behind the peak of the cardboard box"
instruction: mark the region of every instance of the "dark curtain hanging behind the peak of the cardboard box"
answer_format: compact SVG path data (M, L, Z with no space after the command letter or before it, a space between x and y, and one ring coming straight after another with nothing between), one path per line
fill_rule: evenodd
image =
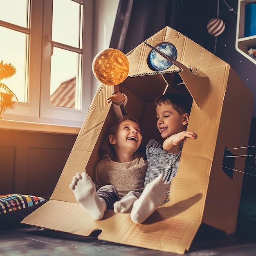
M174 27L177 0L120 0L110 48L127 54L166 26Z

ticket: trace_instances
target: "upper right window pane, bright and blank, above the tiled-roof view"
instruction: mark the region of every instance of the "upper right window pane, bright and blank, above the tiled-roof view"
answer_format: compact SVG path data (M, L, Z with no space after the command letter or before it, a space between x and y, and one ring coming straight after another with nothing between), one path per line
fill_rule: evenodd
M72 0L54 0L52 40L79 48L80 4Z

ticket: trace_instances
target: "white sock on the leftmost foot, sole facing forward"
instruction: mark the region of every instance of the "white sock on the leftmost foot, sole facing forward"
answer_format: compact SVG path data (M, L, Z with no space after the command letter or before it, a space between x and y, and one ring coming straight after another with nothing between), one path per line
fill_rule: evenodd
M83 205L94 220L101 220L106 211L106 203L96 193L95 184L87 173L76 173L70 184L77 202Z

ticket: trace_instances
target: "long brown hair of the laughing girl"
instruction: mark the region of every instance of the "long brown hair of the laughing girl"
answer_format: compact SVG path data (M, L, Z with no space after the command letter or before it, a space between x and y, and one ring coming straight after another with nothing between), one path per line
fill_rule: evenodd
M112 160L115 159L115 157L116 157L115 149L114 149L114 146L112 144L110 144L110 142L109 142L109 136L111 134L116 135L117 129L119 128L120 124L126 120L133 121L136 124L138 124L138 126L139 126L139 122L133 117L124 117L124 118L121 118L121 119L118 119L117 121L115 121L115 123L112 124L112 126L110 126L110 128L108 128L107 132L105 133L104 139L101 143L101 146L99 147L100 159L106 155L108 155ZM135 159L135 158L141 157L141 156L144 156L144 153L143 153L141 146L139 146L139 149L133 154L133 158Z

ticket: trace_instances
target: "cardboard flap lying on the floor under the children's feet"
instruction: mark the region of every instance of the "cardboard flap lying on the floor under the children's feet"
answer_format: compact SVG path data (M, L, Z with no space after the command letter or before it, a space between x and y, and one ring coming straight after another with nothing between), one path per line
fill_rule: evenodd
M143 224L133 223L128 213L116 214L111 210L96 221L80 204L58 200L49 200L21 223L81 236L101 230L100 240L178 254L189 249L201 224L172 214L166 207L160 207Z

